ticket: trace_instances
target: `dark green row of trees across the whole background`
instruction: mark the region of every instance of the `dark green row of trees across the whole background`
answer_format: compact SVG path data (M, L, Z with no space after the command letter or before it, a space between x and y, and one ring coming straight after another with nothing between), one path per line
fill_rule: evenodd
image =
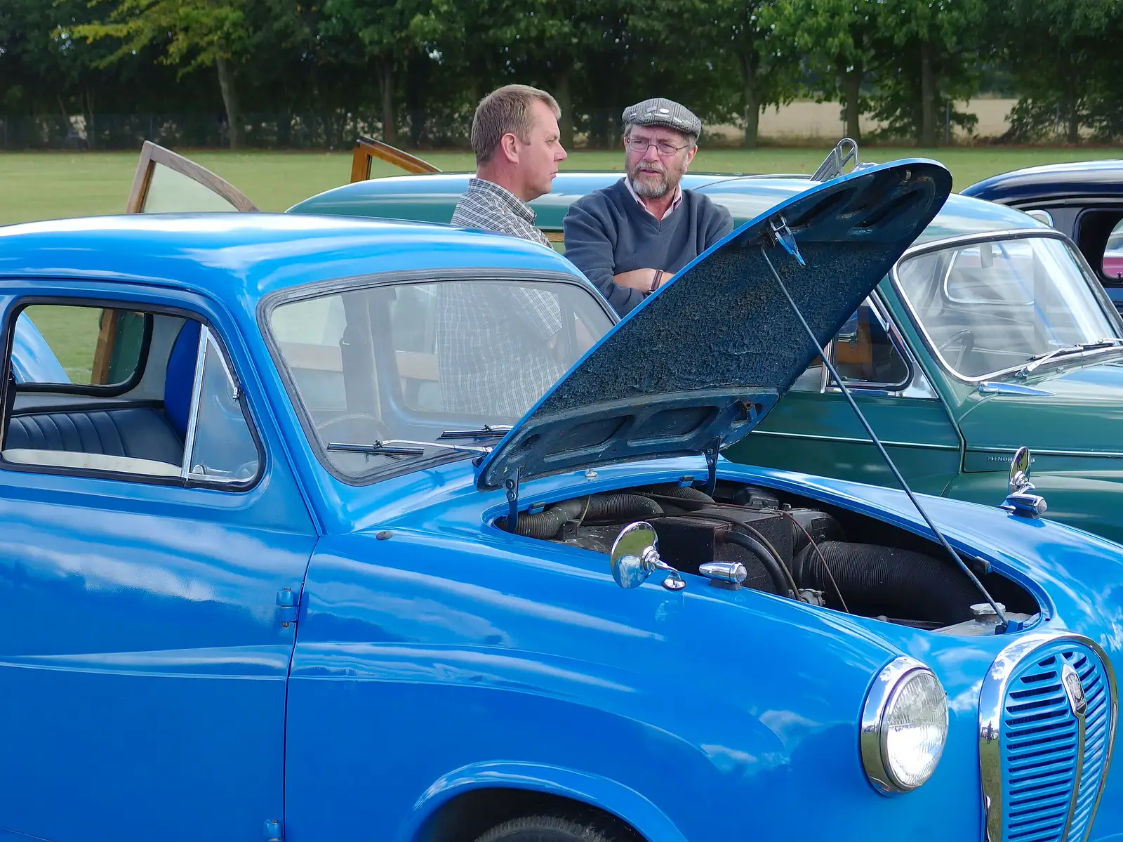
M873 118L935 145L1002 80L1011 139L1076 143L1123 137L1121 36L1123 0L0 0L0 115L77 116L91 144L106 115L221 115L237 145L255 115L316 112L423 146L464 143L520 81L555 94L568 145L618 143L651 96L746 145L807 96L851 136Z

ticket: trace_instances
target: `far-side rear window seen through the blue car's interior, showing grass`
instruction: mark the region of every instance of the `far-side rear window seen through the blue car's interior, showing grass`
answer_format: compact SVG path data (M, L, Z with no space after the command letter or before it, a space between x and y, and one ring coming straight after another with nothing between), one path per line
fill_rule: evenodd
M20 319L17 336L37 331L65 374L47 380L47 373L37 381L104 388L127 383L138 373L150 328L141 313L71 305L31 305Z

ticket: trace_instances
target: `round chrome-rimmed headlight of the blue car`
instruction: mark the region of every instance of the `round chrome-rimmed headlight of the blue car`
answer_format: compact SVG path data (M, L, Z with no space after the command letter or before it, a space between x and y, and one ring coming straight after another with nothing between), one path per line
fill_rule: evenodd
M907 793L932 777L948 739L948 695L913 658L882 670L861 713L861 762L879 793Z

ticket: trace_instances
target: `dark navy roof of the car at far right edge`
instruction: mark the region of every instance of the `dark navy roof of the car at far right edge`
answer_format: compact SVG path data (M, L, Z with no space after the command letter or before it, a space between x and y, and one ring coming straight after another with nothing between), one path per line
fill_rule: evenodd
M964 190L964 196L1003 203L1119 194L1123 194L1121 159L1030 166L993 175Z

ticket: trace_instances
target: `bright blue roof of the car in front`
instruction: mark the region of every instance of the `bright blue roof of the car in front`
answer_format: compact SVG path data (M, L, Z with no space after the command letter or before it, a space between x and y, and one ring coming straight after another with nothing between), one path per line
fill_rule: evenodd
M0 227L0 277L131 280L231 300L374 273L504 268L581 277L553 250L518 237L380 219L159 214Z

